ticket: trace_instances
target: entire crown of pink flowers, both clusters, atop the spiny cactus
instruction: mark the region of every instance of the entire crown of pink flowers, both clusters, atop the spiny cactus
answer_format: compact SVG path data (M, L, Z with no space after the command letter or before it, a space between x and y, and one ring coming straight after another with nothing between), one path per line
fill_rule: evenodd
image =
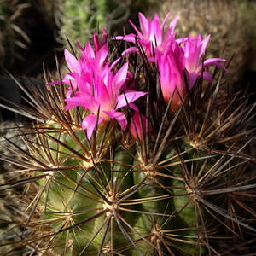
M172 100L171 110L175 110L187 95L188 90L193 87L197 77L212 81L208 73L209 66L213 64L223 67L219 62L225 60L215 58L202 63L201 55L207 47L210 35L203 40L200 35L195 38L191 36L175 38L174 29L177 18L174 18L165 29L169 15L166 15L165 20L160 24L158 15L154 15L154 20L149 20L139 13L142 32L131 23L136 34L116 37L115 40L125 40L135 44L134 47L126 49L123 55L129 55L131 52L139 54L139 48L141 48L148 57L148 61L156 64L165 102L168 104ZM62 80L63 84L70 85L65 109L78 106L84 108L86 116L83 119L82 128L87 130L89 139L95 129L96 120L100 125L103 120L116 119L121 129L125 130L127 119L120 108L125 108L127 105L135 110L138 124L138 108L133 102L146 94L143 91L127 88L126 84L132 77L128 71L128 62L121 67L118 66L119 59L112 64L109 63L107 38L108 35L103 29L102 39L99 39L96 33L93 34L94 47L89 42L84 48L78 44L81 50L79 59L76 59L67 49L65 50L65 58L70 69L70 73L67 73ZM60 81L51 84L58 83ZM143 122L145 122L144 118ZM140 130L139 127L137 129ZM133 130L132 127L131 130Z

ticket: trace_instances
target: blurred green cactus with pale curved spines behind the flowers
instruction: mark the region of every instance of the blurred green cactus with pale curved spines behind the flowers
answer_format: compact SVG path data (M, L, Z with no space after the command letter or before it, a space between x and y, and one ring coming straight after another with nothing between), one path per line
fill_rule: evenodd
M92 32L105 26L107 31L114 24L127 20L131 1L64 1L59 0L55 7L55 20L60 31L57 41L69 48L71 42L86 42ZM113 32L113 30L112 30Z

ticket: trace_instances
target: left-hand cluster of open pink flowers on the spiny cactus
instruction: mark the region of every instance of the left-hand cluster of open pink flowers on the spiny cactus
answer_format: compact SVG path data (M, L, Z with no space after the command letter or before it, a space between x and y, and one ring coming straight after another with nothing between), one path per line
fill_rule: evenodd
M129 105L138 112L137 106L132 102L146 94L127 88L127 80L131 79L128 62L118 70L113 67L116 67L119 59L110 65L106 35L103 33L102 40L99 40L94 34L93 39L95 49L92 49L90 42L85 48L78 44L82 51L79 60L65 49L65 59L71 73L67 73L62 79L63 84L70 85L65 110L81 106L84 111L90 111L82 122L82 128L87 130L89 139L95 129L96 120L97 125L100 125L104 120L116 119L121 129L125 130L127 119L125 113L119 109ZM56 81L48 85L59 83L60 81Z

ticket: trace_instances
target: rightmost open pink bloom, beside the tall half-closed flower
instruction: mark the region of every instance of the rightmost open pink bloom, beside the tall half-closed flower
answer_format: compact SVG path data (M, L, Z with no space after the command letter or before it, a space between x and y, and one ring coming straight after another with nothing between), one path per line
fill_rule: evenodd
M213 58L208 59L203 63L201 62L201 55L203 55L205 52L209 38L210 35L208 35L204 40L201 40L201 35L197 35L195 38L189 36L188 38L177 39L177 42L182 44L181 47L184 50L185 67L189 74L189 89L192 88L192 86L195 84L196 78L201 76L201 74L202 79L212 82L212 76L208 73L209 65L223 67L219 61L226 61L221 58ZM201 73L202 67L206 67L206 71L203 71L203 73ZM226 69L224 70L227 71Z

